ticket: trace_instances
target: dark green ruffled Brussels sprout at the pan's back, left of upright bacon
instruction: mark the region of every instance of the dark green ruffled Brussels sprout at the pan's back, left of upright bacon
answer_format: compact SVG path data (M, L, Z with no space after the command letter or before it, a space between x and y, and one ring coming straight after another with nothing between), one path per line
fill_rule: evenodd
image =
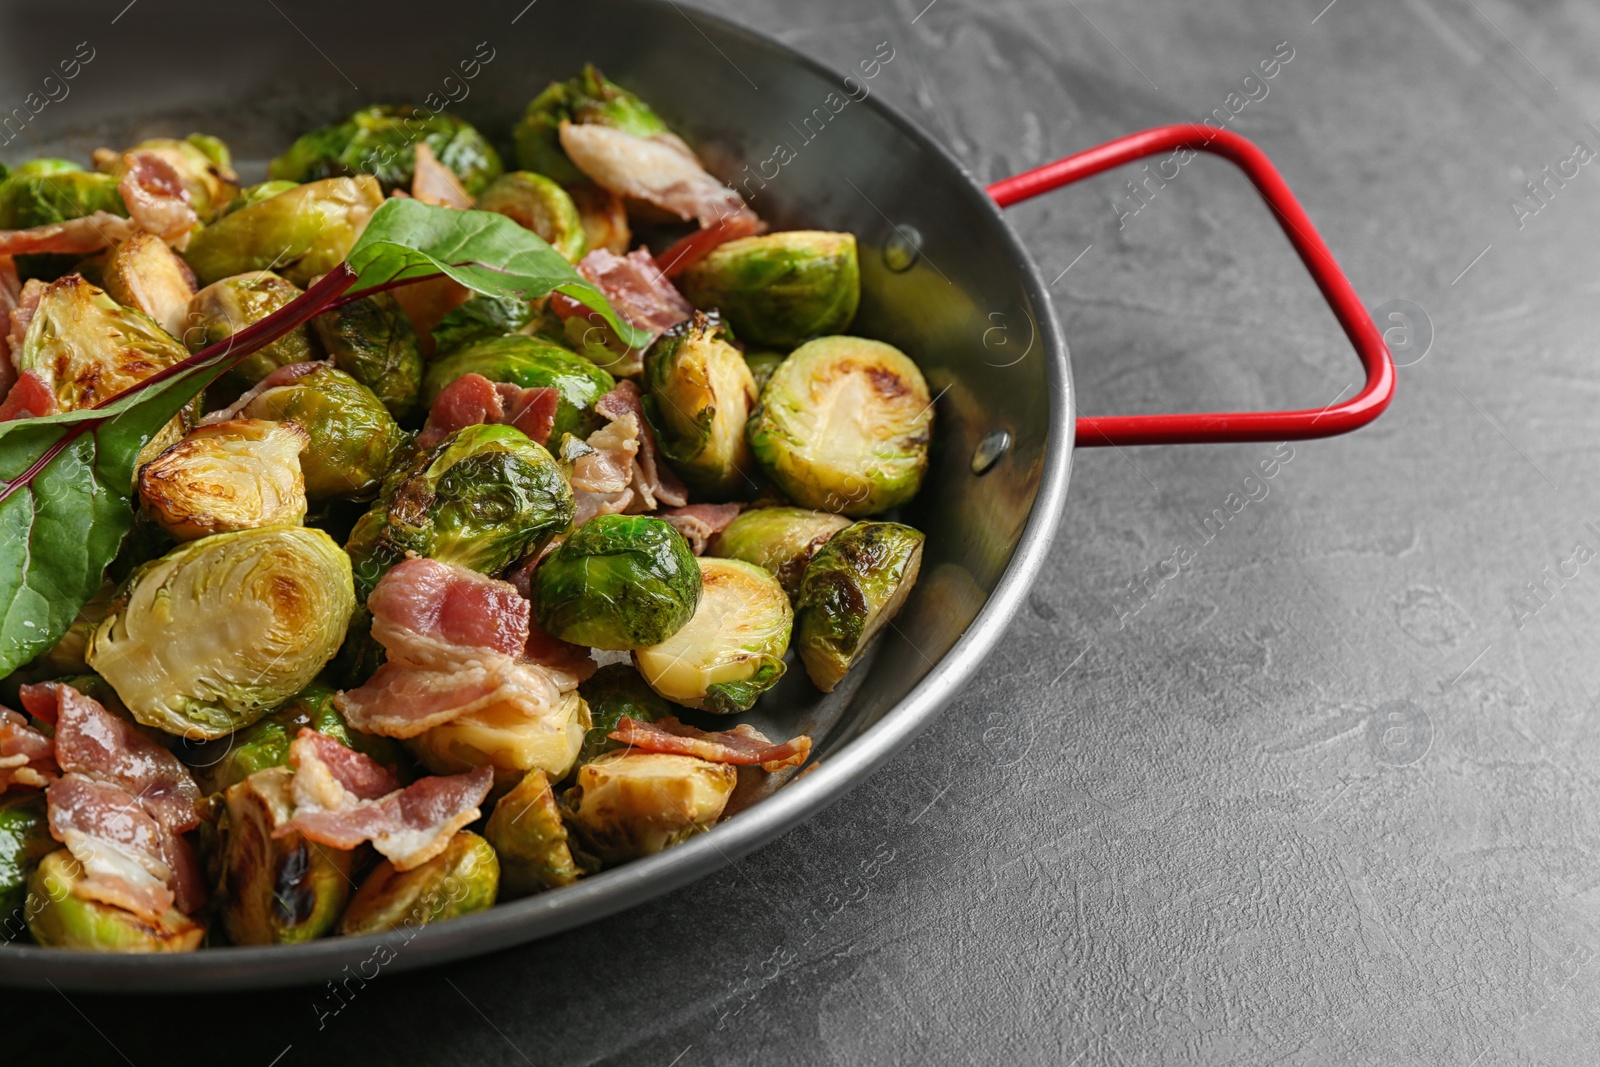
M432 149L474 197L502 170L494 147L461 118L410 104L378 104L304 134L272 160L267 176L315 181L374 174L386 194L410 190L418 141Z

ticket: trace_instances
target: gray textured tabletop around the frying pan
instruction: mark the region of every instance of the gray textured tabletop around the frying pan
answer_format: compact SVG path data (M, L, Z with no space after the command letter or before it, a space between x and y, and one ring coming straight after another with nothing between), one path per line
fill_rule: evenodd
M1080 454L986 677L843 803L693 888L338 1011L326 990L5 993L6 1048L1594 1062L1594 5L710 6L838 67L890 42L875 91L986 179L1237 110L1368 304L1406 301L1381 323L1406 363L1392 410L1291 451ZM1018 210L1085 410L1349 395L1347 344L1237 174L1197 162L1138 211L1125 194L1102 178ZM1154 597L1130 595L1146 577Z

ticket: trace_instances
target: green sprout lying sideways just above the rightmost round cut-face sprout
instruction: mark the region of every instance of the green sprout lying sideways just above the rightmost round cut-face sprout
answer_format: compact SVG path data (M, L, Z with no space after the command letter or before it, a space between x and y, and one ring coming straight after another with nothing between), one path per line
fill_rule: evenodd
M717 309L741 341L792 347L840 333L861 302L851 234L790 230L718 245L683 274L683 296Z

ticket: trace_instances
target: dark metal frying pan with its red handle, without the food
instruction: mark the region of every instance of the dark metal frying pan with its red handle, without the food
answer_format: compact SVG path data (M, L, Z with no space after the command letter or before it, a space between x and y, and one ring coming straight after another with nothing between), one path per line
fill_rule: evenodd
M398 971L533 941L683 886L816 814L902 749L1005 632L1050 550L1078 445L1309 438L1376 418L1394 390L1378 328L1270 162L1208 126L1122 138L987 190L870 91L758 34L650 0L544 0L442 18L437 5L32 5L0 26L0 112L61 59L69 94L0 134L0 158L85 158L99 144L203 130L234 146L243 178L304 130L382 101L458 99L504 134L550 78L594 61L635 90L733 181L774 229L850 230L861 242L853 333L912 354L938 395L931 467L906 522L928 533L922 581L872 659L819 696L790 672L747 718L810 733L816 758L710 833L576 886L410 936L294 947L107 957L0 947L0 984L72 990L219 990ZM520 10L520 11L518 11ZM477 75L461 61L486 54ZM891 42L893 46L893 42ZM862 56L870 61L872 56ZM59 86L59 80L56 82ZM50 86L45 86L46 90ZM51 90L59 96L61 90ZM32 98L35 102L38 96ZM840 104L843 101L843 104ZM781 152L778 146L789 150ZM1046 286L1002 206L1149 155L1237 163L1274 211L1366 368L1365 389L1323 410L1082 418ZM1006 346L994 344L1003 326ZM346 969L349 968L349 969Z

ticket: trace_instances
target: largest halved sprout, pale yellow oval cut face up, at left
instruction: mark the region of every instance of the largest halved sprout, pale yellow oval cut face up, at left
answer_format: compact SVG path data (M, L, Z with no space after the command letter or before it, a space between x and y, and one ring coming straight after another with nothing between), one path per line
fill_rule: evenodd
M323 531L222 533L136 569L88 662L146 726L221 737L304 689L354 611L350 558Z

